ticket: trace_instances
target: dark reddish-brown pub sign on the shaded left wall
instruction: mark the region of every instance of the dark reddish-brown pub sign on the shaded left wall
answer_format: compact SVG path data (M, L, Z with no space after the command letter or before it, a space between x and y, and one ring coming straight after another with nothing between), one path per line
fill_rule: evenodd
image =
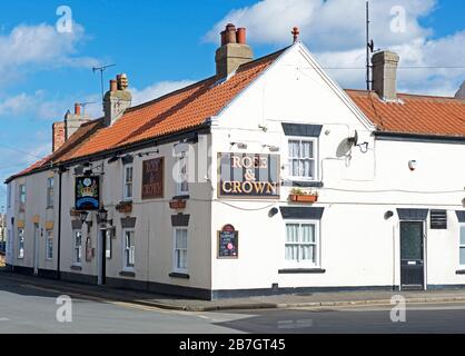
M142 199L164 197L164 157L145 160L142 162Z

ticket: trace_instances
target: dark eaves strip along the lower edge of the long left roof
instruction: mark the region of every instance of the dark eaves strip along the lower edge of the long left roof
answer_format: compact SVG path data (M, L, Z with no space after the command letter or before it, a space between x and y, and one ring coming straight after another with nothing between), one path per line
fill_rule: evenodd
M92 155L88 155L88 156L78 157L76 159L71 159L71 160L68 160L68 161L65 161L65 162L50 164L50 165L47 165L44 167L39 167L37 169L28 171L24 175L11 176L11 177L9 177L4 180L4 184L9 184L10 181L12 181L14 179L31 176L31 175L40 172L40 171L47 171L47 170L50 170L50 169L56 168L56 167L61 167L62 169L67 169L68 167L72 167L72 166L76 166L76 165L79 165L79 164L92 162L95 160L109 159L109 158L112 158L115 155L121 156L123 154L129 154L131 151L137 151L137 150L145 149L145 148L157 147L157 146L160 146L160 145L171 144L171 142L176 142L176 141L184 140L184 139L191 139L191 138L198 137L198 135L209 135L209 134L211 134L210 128L211 128L211 121L209 119L207 119L204 123L201 123L199 126L196 126L196 127L192 127L192 128L187 129L187 130L155 137L155 138L147 139L147 140L144 140L144 141L140 141L140 142L128 144L128 145L120 146L120 147L117 147L117 148L113 148L113 149L102 150L98 154L92 154Z

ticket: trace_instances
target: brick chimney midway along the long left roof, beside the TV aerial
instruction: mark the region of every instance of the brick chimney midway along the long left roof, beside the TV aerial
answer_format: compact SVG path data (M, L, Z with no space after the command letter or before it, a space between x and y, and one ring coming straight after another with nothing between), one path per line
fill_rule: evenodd
M118 75L110 80L110 90L103 98L105 125L113 125L131 107L132 95L128 89L128 77Z

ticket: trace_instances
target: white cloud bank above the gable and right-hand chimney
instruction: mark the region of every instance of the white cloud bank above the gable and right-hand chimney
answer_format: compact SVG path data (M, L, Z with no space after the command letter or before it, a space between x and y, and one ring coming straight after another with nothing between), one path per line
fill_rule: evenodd
M370 29L375 47L397 51L400 67L465 66L465 31L432 39L433 30L419 24L421 18L432 14L436 6L436 0L373 0ZM246 27L250 43L280 46L291 43L290 29L298 26L300 39L323 67L360 68L329 70L343 87L365 87L365 0L263 0L230 11L205 39L218 42L218 33L228 22ZM465 70L400 69L398 78L400 90L454 95L465 79Z

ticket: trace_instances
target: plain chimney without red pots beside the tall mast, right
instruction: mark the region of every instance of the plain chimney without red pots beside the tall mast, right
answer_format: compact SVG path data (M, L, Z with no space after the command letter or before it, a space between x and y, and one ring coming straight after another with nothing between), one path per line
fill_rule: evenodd
M397 100L397 67L399 57L390 51L377 52L372 58L373 89L386 101Z

